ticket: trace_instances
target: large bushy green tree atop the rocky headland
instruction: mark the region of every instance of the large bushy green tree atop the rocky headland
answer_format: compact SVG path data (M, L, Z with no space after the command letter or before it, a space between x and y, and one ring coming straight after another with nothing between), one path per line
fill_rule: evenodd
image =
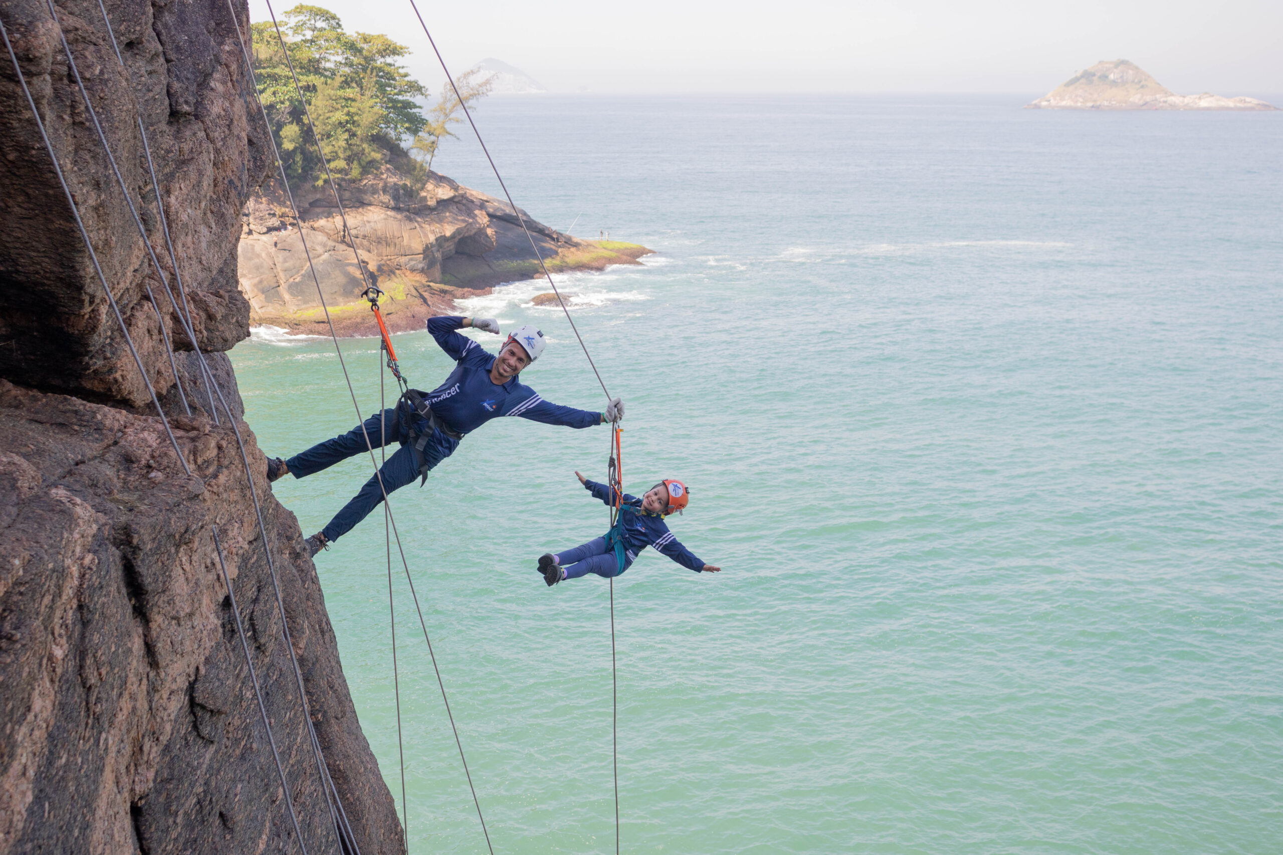
M286 172L323 181L276 29L271 22L251 29L254 73ZM321 6L298 5L282 14L281 33L330 168L359 178L389 155L404 158L400 141L426 124L413 100L426 91L398 62L409 49L387 36L348 33L339 17Z

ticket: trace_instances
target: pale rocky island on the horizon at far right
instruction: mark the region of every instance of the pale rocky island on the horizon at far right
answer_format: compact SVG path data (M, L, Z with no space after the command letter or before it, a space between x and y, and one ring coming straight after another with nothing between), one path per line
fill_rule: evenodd
M1177 95L1125 59L1100 62L1025 109L1033 110L1273 110L1255 97Z

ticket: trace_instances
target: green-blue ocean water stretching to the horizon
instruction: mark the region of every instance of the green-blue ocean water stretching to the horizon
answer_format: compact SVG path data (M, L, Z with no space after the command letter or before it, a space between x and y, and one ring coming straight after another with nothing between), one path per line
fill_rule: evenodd
M559 283L626 483L685 479L725 568L616 581L624 851L1280 850L1283 113L1026 100L482 104L520 205L657 250ZM439 165L498 192L472 141ZM599 409L544 291L459 311L540 324L523 379ZM376 342L343 349L368 414ZM354 423L328 341L232 358L269 454ZM535 573L606 531L607 442L502 419L393 497L497 852L615 842L608 586ZM368 473L275 490L312 532ZM400 802L384 538L317 565ZM393 569L411 851L482 852Z

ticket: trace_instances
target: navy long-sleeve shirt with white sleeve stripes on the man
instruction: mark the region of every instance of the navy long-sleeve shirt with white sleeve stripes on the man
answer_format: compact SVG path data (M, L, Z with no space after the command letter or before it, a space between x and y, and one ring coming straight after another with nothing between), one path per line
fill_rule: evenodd
M490 381L490 368L497 356L482 350L467 336L455 332L463 324L461 317L429 318L427 331L455 361L454 370L445 382L425 395L436 417L457 433L471 433L490 419L520 415L544 424L562 424L586 428L602 423L602 414L561 406L539 397L535 390L513 377L506 383ZM430 456L440 460L453 454L458 440L436 431L430 442L436 446Z

